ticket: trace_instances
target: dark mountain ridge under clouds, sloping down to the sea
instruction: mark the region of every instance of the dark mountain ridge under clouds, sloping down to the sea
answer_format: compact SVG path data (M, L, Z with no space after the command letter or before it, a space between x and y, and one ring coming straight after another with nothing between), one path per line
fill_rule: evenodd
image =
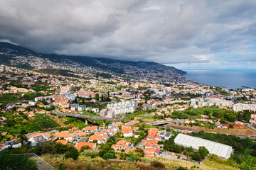
M40 61L40 62L39 62ZM43 69L58 67L68 67L67 63L79 65L79 67L93 67L102 69L106 72L114 72L116 74L130 74L133 76L141 76L145 79L151 77L152 80L164 77L166 81L185 81L182 75L186 74L181 69L166 66L157 62L133 62L126 60L114 60L105 57L89 57L78 55L57 55L57 54L41 54L29 50L20 45L14 45L9 42L0 42L0 64L23 65L40 68L38 64L46 65ZM61 66L62 65L62 66ZM52 66L52 67L50 67ZM56 67L58 69L58 67ZM74 70L73 70L74 71ZM162 79L162 80L164 80Z

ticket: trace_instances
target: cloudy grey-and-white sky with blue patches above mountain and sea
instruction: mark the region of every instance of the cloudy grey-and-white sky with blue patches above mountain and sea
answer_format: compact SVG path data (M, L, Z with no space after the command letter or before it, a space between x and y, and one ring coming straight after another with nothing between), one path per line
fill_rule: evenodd
M0 40L36 52L255 69L256 1L0 0Z

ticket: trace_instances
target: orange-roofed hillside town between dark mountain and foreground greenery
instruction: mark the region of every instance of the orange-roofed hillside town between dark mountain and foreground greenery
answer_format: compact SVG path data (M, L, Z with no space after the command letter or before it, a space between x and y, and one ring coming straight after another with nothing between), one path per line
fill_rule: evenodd
M53 142L78 150L102 151L109 145L107 152L119 153L118 158L102 154L104 159L142 152L143 157L201 162L205 157L197 159L197 152L186 154L184 148L205 147L209 154L229 159L236 147L202 140L197 133L256 137L255 89L127 80L110 74L65 77L6 65L0 70L1 152Z

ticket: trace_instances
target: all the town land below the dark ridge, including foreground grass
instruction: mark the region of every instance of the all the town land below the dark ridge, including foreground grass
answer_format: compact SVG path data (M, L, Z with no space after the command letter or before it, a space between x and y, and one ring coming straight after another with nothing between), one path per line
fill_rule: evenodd
M37 60L40 69L0 67L2 166L256 169L255 89Z

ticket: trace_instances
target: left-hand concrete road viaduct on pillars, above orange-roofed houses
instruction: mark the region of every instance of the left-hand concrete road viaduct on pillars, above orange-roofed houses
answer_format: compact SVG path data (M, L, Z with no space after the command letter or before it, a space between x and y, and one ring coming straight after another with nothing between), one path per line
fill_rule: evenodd
M55 114L56 115L65 115L65 116L73 117L73 118L84 118L85 119L85 124L87 124L87 119L104 120L104 122L105 121L111 121L111 122L126 121L126 122L129 122L129 120L116 119L116 118L103 118L103 117L96 116L96 115L80 115L80 114L62 113L62 112L55 112Z

